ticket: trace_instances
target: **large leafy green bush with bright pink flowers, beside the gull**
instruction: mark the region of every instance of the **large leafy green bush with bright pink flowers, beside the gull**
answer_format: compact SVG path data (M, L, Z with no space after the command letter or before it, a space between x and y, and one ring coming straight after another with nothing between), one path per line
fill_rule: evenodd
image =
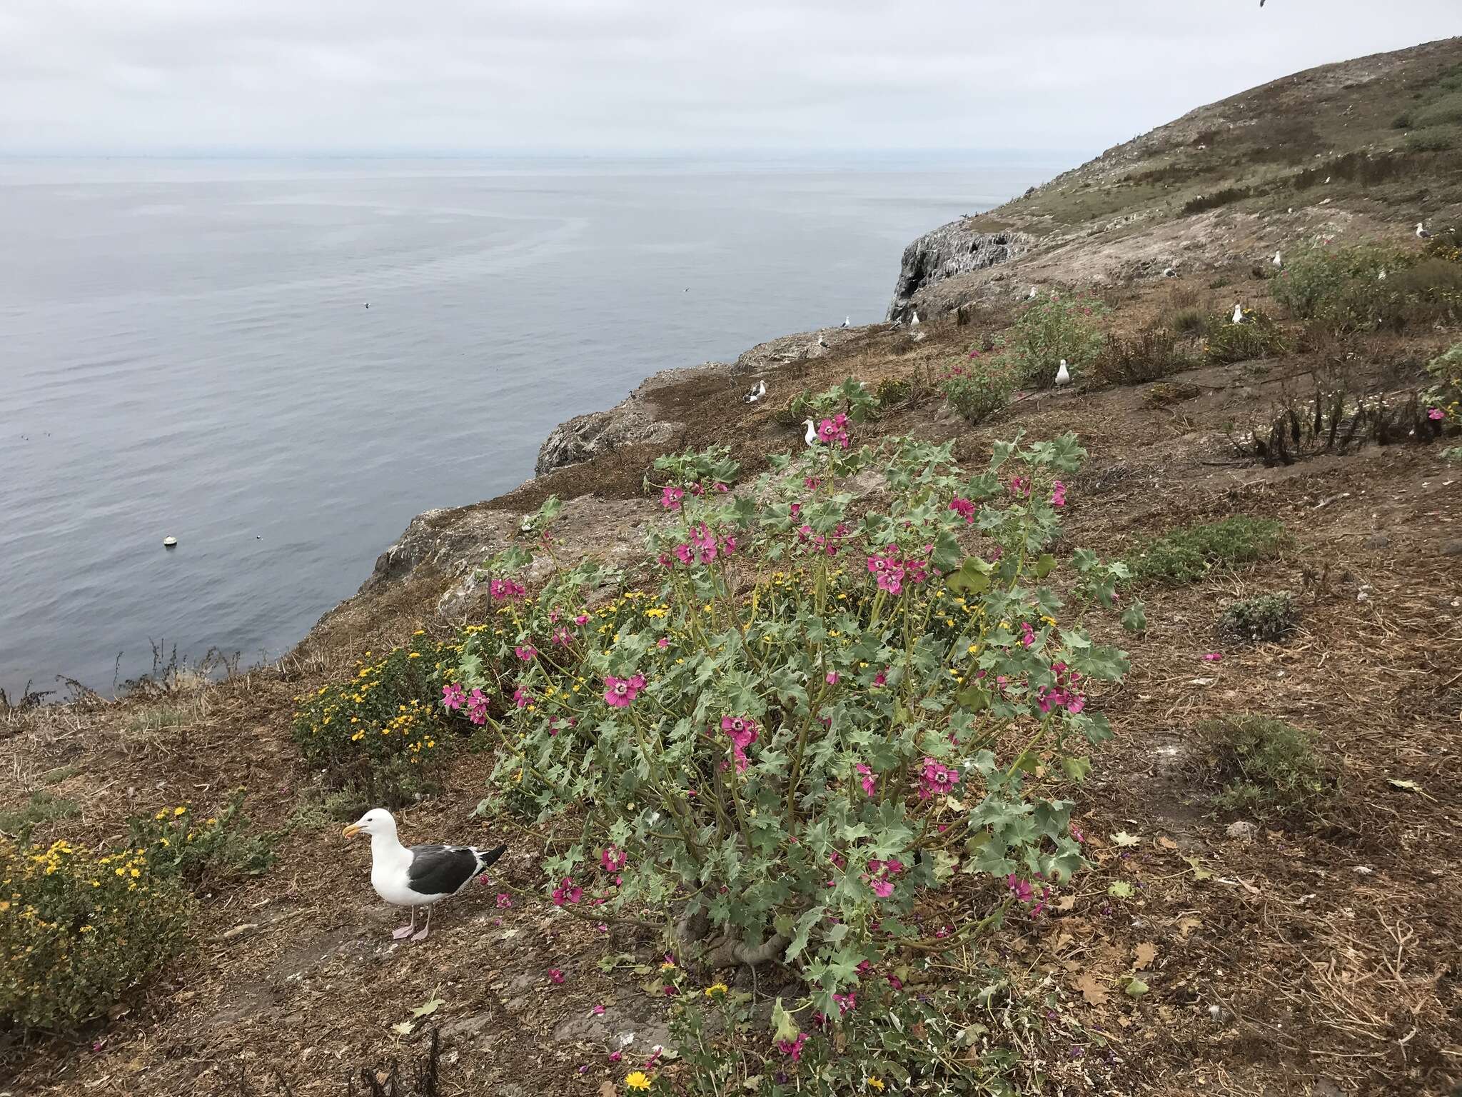
M494 790L579 828L544 857L556 902L667 911L706 964L795 965L836 1018L864 964L953 946L1080 867L1061 775L1110 734L1092 693L1127 666L1082 617L1126 569L1045 551L1075 437L1000 443L978 474L950 451L773 456L648 534L656 591L591 610L580 565L516 606L516 633L465 638L455 685L531 699L488 705ZM864 470L889 505L855 518L838 484ZM965 913L924 929L918 904L956 886Z

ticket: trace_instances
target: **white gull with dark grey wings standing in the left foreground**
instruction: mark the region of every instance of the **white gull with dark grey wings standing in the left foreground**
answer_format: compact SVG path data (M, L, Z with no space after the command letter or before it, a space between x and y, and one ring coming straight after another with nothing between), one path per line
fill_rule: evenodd
M412 845L396 838L396 821L383 807L371 807L341 834L354 838L370 835L370 885L386 902L411 907L411 924L392 932L401 940L425 940L431 929L431 907L459 894L493 864L506 845L480 850L475 845ZM427 908L427 924L417 932L417 907Z

